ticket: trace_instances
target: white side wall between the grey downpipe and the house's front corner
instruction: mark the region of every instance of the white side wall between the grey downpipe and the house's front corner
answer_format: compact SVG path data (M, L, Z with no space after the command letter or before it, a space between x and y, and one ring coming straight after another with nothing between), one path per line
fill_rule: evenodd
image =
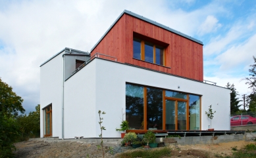
M95 62L64 84L64 138L95 138Z

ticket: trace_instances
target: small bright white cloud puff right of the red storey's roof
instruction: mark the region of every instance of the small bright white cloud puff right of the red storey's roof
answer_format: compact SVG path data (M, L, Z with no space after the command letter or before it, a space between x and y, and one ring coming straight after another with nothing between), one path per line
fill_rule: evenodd
M199 30L197 32L199 33L199 35L205 35L206 33L217 31L220 27L221 24L218 24L217 18L215 18L215 16L209 15L207 16L203 24L199 26Z

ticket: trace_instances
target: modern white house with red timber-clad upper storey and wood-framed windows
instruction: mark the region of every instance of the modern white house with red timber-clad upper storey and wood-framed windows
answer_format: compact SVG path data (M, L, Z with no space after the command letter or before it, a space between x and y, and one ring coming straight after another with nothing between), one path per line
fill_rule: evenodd
M230 130L230 90L203 80L203 43L124 10L91 52L65 48L40 66L41 137L130 130ZM125 113L123 115L123 113Z

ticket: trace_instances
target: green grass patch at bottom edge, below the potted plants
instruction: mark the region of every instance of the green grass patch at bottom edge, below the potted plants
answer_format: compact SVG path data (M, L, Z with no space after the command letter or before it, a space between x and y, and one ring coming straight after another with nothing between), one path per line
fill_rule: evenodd
M133 157L141 157L141 158L160 158L163 156L170 156L170 149L163 148L163 149L156 149L156 150L136 150L126 153L121 153L118 157L122 158L133 158Z

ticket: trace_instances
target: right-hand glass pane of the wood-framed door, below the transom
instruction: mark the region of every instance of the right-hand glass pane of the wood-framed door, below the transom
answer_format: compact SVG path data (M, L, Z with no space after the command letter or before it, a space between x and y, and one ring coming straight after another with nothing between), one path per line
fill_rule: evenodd
M178 130L187 130L187 102L178 101Z

